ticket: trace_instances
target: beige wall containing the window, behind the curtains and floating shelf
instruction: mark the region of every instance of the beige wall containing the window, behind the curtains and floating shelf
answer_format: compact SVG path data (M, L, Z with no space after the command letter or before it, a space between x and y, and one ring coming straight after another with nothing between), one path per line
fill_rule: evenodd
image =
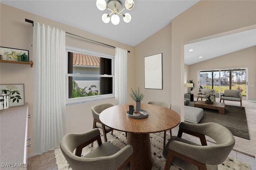
M33 61L33 27L31 23L25 22L25 18L33 20L34 22L44 23L45 25L50 25L51 27L62 29L66 32L74 33L82 37L93 39L95 41L127 49L131 51L128 53L128 65L133 65L134 63L134 47L129 45L112 41L110 39L106 39L104 37L100 37L98 35L94 35L92 33L49 20L47 18L42 18L40 16L36 16L17 8L12 8L4 4L0 4L0 17L0 46L29 50L30 61ZM84 39L67 34L66 45L115 55L115 49L113 48L99 45L97 43L92 43L90 41L86 41ZM129 67L127 77L128 92L130 92L130 88L133 87L133 77L134 70L133 68ZM31 156L33 152L33 68L26 64L0 63L0 83L24 83L25 102L28 103L29 113L32 115L32 118L28 122L28 136L32 137L32 147L28 150L28 156ZM130 100L130 97L128 97L128 100ZM84 104L66 106L66 133L82 132L92 129L93 119L91 107L102 102L114 103L114 98L109 100L100 100L96 102L86 102Z

